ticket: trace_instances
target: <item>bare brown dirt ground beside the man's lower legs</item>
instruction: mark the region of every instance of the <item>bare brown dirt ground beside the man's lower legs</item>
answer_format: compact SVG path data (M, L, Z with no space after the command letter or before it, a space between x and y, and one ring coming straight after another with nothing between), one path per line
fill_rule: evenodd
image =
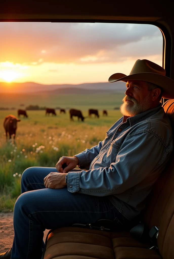
M48 231L48 229L44 231L44 241ZM12 247L13 236L13 212L0 213L0 254Z

